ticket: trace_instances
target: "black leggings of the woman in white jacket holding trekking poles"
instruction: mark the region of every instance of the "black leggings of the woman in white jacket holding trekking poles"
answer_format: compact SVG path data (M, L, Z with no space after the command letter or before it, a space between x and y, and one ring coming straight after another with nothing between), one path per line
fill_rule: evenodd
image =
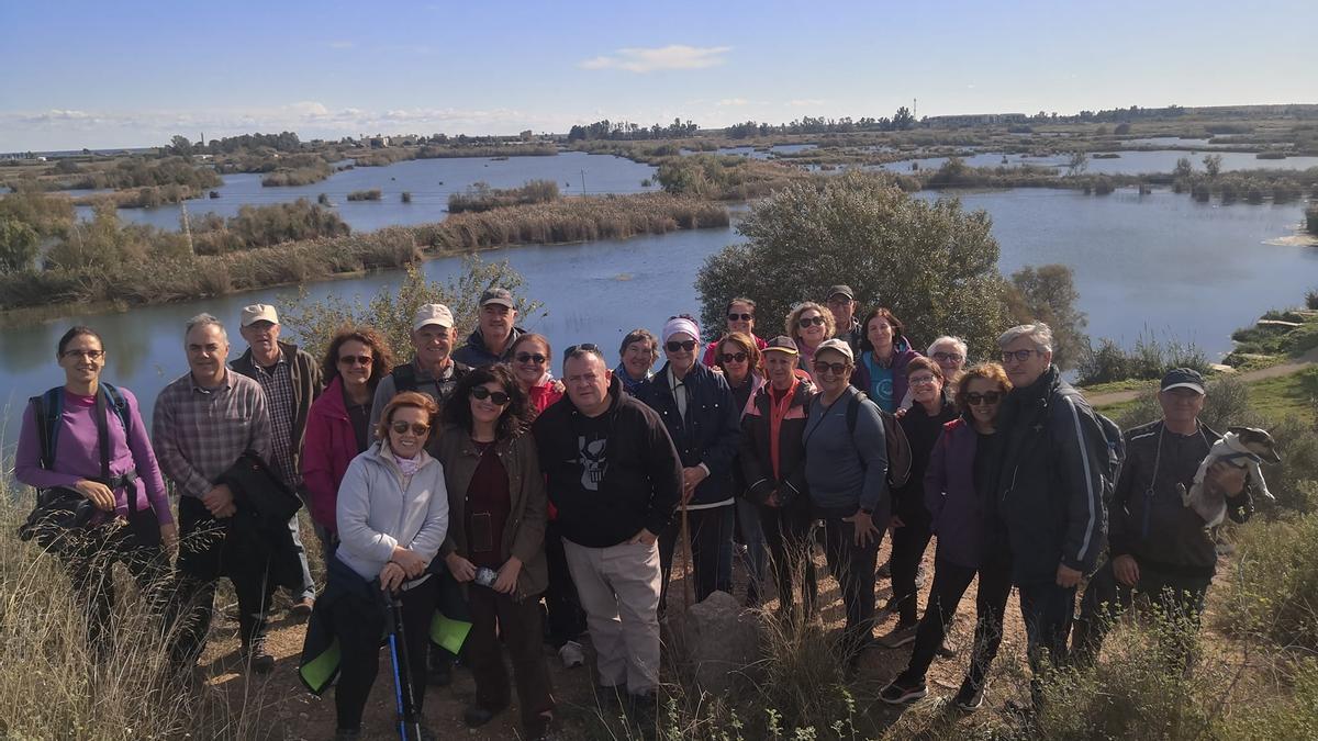
M435 584L431 583L434 580L431 576L402 592L403 632L407 641L401 649L407 651L418 713L426 699L426 646L430 645L430 621L435 613ZM361 728L361 713L380 671L380 639L385 634L385 613L382 609L335 609L333 632L339 637L341 657L339 683L333 695L339 729L356 730Z

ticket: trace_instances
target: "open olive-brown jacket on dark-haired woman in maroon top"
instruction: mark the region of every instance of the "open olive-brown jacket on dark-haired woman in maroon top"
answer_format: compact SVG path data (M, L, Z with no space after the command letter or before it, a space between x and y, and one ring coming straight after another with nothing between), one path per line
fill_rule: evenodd
M472 444L465 430L445 426L435 446L435 458L444 464L448 488L448 529L439 552L468 555L467 492L472 476L481 463L481 454ZM539 596L550 584L548 562L544 558L544 525L548 521L544 476L530 432L503 438L494 443L494 455L507 472L509 512L503 533L500 533L500 559L517 556L522 562L514 600Z

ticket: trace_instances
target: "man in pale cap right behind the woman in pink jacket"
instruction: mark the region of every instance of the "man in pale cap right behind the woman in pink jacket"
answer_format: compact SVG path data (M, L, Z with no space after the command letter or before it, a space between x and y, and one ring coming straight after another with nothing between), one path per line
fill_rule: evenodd
M401 392L430 394L440 406L471 367L453 360L453 312L443 303L427 303L413 316L413 348L416 356L380 380L370 405L370 429L380 423L385 405Z

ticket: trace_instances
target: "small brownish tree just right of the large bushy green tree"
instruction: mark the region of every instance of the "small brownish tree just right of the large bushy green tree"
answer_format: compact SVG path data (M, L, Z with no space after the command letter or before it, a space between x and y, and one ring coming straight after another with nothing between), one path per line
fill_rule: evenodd
M1011 274L1007 310L1017 324L1044 322L1053 330L1053 363L1074 368L1089 347L1089 316L1075 307L1075 273L1068 265L1025 265Z

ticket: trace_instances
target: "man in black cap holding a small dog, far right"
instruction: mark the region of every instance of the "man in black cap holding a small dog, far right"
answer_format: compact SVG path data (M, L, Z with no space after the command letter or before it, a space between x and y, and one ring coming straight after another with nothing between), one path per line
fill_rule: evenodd
M1217 572L1218 552L1207 523L1181 505L1178 487L1189 488L1199 464L1222 435L1199 422L1203 377L1176 368L1157 394L1162 419L1126 432L1126 460L1112 494L1108 562L1085 589L1074 650L1093 659L1103 643L1111 613L1131 605L1131 592L1148 595L1176 620L1198 624L1203 596ZM1243 468L1218 463L1206 485L1226 494L1227 516L1246 522L1253 500Z

